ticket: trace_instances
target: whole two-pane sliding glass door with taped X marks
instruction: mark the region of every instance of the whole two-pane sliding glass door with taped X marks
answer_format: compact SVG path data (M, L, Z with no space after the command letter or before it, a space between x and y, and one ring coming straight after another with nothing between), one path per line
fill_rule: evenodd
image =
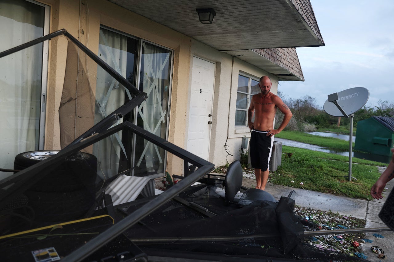
M125 119L166 139L172 51L101 27L99 57L148 95L147 100ZM130 99L130 94L122 85L98 68L96 122ZM101 177L112 177L130 166L135 167L132 171L134 175L164 176L164 150L147 140L133 138L131 133L119 132L100 141L93 145L93 154L98 159Z

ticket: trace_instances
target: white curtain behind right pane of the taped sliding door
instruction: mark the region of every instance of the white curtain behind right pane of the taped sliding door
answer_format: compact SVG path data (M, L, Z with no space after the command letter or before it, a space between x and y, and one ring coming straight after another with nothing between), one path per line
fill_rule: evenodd
M145 130L165 138L171 52L147 42L143 42L142 48L143 92L147 93L148 98L138 107L138 114L143 120ZM141 164L143 157L145 157L148 172L164 172L164 151L160 152L156 145L146 140L144 146L137 166Z

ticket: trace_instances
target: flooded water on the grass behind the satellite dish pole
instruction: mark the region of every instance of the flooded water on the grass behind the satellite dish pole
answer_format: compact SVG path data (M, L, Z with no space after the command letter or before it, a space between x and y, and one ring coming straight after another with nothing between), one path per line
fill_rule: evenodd
M325 134L323 132L310 132L310 133L322 133L322 134ZM310 134L310 133L308 133L308 134ZM336 135L335 133L327 133L327 134ZM314 134L312 134L312 135L314 135ZM342 136L346 137L346 135L342 135ZM349 141L349 136L347 136L347 137L348 137L347 141ZM337 137L337 138L339 138L339 137ZM355 138L355 137L353 137L353 138ZM340 138L340 139L343 139L343 138ZM346 139L344 139L344 140L346 140ZM343 156L349 157L349 151L335 151L335 150L331 150L329 148L323 148L321 146L315 146L315 145L306 144L306 143L303 143L303 142L297 142L297 141L293 141L293 140L288 140L288 139L283 139L283 138L276 138L276 137L275 137L275 141L282 142L282 145L284 145L284 146L294 146L296 148L304 148L304 149L320 151L320 152L325 152L325 153L331 153L331 154L336 154L336 155L343 155ZM382 162L382 163L390 162L390 157L386 157L386 156L383 156L383 155L374 155L374 154L368 154L368 153L352 152L351 156L352 157L357 157L357 158L360 158L360 159L370 160L370 161Z

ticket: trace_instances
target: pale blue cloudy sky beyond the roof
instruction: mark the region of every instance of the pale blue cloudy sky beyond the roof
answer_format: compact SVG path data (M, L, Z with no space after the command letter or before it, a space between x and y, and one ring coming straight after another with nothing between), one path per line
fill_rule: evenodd
M394 1L310 0L325 46L296 48L305 81L280 81L283 98L365 87L368 107L394 103Z

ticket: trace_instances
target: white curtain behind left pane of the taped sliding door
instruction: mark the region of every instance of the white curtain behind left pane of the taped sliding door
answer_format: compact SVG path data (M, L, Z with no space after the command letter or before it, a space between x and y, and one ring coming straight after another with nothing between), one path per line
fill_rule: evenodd
M127 39L125 36L100 29L99 57L115 71L126 77ZM100 66L97 69L95 124L125 103L125 88ZM121 122L120 120L119 122ZM107 137L93 145L93 154L99 162L97 173L102 179L118 173L123 150L122 133Z

